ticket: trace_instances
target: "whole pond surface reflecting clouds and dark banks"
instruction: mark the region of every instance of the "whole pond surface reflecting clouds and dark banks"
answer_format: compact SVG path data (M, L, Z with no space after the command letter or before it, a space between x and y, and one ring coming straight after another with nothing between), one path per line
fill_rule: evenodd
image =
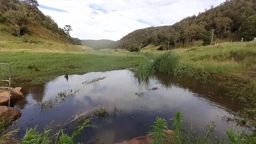
M216 125L213 137L225 137L227 129L246 130L228 121L235 118L230 112L241 109L243 103L225 98L218 83L201 83L190 77L159 75L141 84L127 69L60 76L43 85L25 86L22 92L27 94L26 99L15 104L22 111L15 122L20 128L18 137L26 133L27 127L36 125L39 131L51 124L55 130L65 128L71 132L73 127L63 124L98 106L107 107L107 116L93 118L94 127L86 129L78 141L114 143L139 137L150 131L156 116L167 119L171 126L169 119L177 110L184 115L184 126L192 125L196 135L205 133L211 122ZM58 98L54 103L61 92L72 96Z

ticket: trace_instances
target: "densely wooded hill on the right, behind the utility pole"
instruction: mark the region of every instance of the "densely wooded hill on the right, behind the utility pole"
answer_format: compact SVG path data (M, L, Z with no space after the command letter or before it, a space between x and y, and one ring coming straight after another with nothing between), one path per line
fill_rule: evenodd
M212 29L215 39L252 41L256 37L256 1L230 0L205 12L185 18L172 26L149 27L135 30L117 41L113 48L138 50L149 44L171 47L186 46L195 41L211 43Z

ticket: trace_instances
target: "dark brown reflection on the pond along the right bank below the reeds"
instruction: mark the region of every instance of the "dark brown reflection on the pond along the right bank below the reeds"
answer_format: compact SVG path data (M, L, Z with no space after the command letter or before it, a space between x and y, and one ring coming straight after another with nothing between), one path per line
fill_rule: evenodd
M162 74L156 75L155 78L160 84L166 87L174 85L182 87L182 89L196 93L197 97L210 100L211 102L217 103L230 110L238 111L245 106L239 99L230 100L230 98L226 98L225 93L220 89L219 83L216 81L201 83L196 78L189 76L178 77ZM237 104L239 104L239 106L237 106Z

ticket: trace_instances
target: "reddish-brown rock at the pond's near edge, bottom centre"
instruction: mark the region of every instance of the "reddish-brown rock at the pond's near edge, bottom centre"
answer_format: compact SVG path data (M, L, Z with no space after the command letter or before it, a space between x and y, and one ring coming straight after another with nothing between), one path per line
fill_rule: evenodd
M141 136L141 137L123 141L123 142L119 142L116 144L150 144L151 141L153 141L153 138L148 134L145 136Z

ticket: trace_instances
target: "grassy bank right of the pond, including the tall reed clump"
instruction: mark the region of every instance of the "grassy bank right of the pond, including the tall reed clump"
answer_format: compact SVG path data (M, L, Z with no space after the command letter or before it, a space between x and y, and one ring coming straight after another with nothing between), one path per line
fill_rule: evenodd
M218 79L227 96L246 101L251 108L245 110L256 114L256 43L224 43L151 55L141 63L136 74L145 78L155 73L185 74L201 82Z

